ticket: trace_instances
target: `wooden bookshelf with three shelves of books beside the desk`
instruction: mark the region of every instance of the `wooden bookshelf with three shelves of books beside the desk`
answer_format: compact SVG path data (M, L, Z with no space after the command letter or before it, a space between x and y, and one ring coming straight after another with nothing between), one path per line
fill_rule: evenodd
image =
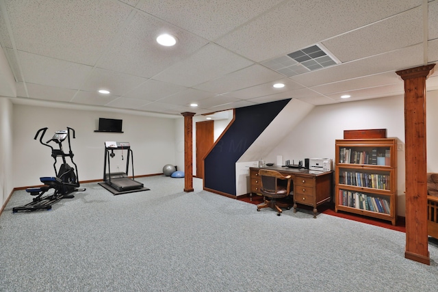
M336 140L335 151L335 211L389 220L395 226L397 140Z

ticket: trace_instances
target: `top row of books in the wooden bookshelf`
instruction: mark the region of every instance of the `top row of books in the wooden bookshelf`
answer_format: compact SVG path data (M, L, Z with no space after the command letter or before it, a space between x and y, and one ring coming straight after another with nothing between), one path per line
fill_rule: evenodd
M389 149L378 153L377 148L372 148L371 151L357 151L355 148L346 147L339 148L339 163L390 165L390 159L391 152Z

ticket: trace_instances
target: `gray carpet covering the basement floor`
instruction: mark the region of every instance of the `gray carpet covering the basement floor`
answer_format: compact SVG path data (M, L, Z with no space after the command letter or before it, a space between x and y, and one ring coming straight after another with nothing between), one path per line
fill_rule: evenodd
M0 291L437 291L431 265L404 258L405 235L331 215L270 209L184 180L113 196L97 183L51 211L0 217Z

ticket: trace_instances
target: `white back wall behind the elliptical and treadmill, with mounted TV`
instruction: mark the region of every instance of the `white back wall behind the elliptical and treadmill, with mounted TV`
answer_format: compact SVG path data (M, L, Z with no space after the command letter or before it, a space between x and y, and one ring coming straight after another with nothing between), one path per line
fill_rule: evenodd
M170 118L29 105L14 105L13 116L14 187L40 185L40 176L54 176L50 148L34 140L36 131L44 127L49 128L44 141L50 140L57 130L75 129L72 150L80 181L103 178L105 141L131 144L136 176L162 173L165 164L176 163L175 121ZM124 133L95 133L99 118L122 119ZM68 144L64 142L63 146L68 147ZM123 153L126 158L127 151ZM121 157L120 150L116 155L114 163L111 161L111 171L117 171L113 168L116 165L125 171L126 160L117 161Z

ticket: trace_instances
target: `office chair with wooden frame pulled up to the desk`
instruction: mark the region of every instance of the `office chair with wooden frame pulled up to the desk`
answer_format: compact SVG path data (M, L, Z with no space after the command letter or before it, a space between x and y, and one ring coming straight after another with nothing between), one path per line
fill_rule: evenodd
M272 208L277 211L277 216L283 212L281 207L289 210L292 204L279 202L277 199L286 198L290 193L291 176L283 176L275 170L259 170L261 177L260 193L263 195L264 202L257 205L257 211L263 208Z

